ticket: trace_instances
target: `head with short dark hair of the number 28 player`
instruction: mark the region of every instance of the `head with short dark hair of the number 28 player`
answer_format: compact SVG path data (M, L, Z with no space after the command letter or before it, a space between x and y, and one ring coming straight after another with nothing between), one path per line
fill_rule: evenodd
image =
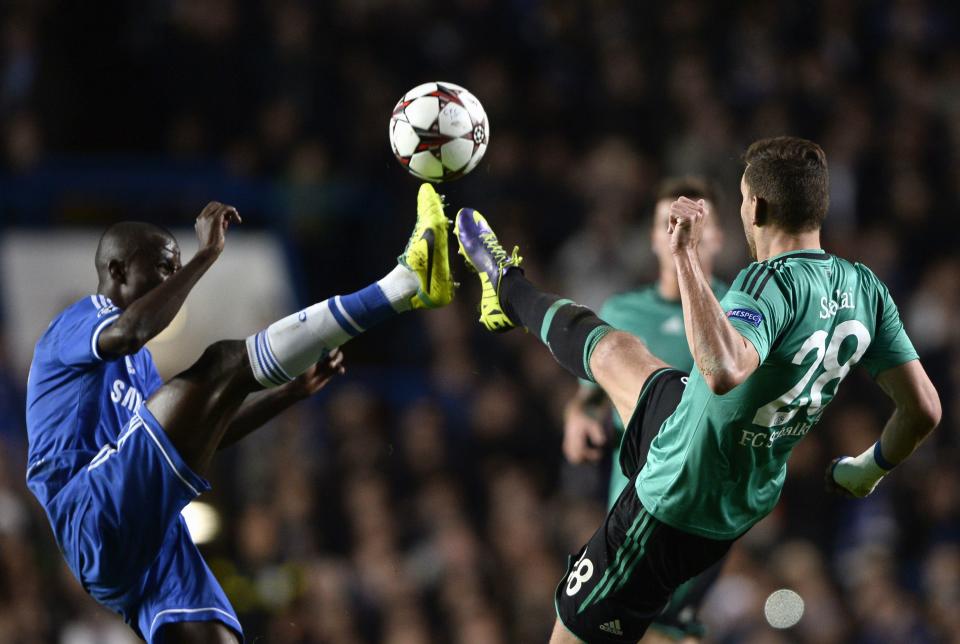
M743 160L747 188L767 203L770 221L788 233L820 228L830 206L823 148L806 139L777 136L754 142Z

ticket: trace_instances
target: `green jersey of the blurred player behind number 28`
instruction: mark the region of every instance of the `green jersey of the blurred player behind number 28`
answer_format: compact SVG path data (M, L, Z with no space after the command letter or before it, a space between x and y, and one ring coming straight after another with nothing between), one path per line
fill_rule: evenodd
M718 298L723 297L727 292L727 285L719 280L713 280L711 286L714 295ZM609 297L600 308L599 316L607 324L643 340L650 352L668 365L683 371L693 369L693 356L690 354L690 347L687 346L687 336L683 326L683 307L680 305L680 300L666 299L660 295L660 289L656 284ZM616 430L616 447L613 451L613 467L610 471L608 499L610 507L630 481L617 465L620 462L623 422L616 410L613 410L613 427Z

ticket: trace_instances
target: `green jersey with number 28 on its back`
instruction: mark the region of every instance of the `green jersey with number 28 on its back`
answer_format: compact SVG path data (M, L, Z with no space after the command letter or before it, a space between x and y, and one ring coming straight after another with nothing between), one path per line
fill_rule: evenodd
M857 364L872 374L915 360L886 286L822 250L754 262L721 301L760 366L714 394L698 370L653 440L637 493L657 519L733 539L780 498L793 446Z

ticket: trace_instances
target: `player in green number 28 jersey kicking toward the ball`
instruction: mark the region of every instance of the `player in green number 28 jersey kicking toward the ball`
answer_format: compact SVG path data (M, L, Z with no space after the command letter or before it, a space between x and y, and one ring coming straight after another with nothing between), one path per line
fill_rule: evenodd
M571 557L555 594L552 644L639 640L680 584L773 510L793 446L855 366L895 409L875 444L830 464L832 489L870 494L940 422L939 396L887 287L820 246L829 203L823 150L777 137L755 142L744 160L740 215L756 261L722 300L697 256L709 215L703 200L681 197L670 210L695 361L689 383L635 336L533 286L517 250L508 254L480 213L457 214L460 250L483 288L481 322L536 333L629 418L620 461L630 485Z

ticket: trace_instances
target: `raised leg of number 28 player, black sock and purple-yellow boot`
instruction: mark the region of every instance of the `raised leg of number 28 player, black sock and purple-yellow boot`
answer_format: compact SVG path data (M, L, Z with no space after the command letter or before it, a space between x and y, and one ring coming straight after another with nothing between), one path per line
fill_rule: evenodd
M480 322L490 331L521 325L535 334L567 371L603 387L626 422L643 383L666 363L590 309L531 284L519 269L517 249L508 255L479 212L460 210L456 232L460 253L480 276Z

